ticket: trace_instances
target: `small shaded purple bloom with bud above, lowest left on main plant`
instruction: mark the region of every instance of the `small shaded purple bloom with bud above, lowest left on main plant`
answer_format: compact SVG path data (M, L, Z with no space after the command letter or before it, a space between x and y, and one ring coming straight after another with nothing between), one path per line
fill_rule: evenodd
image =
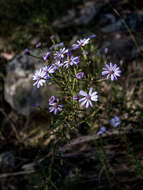
M51 97L52 98L52 97ZM51 99L50 98L50 99ZM53 100L53 101L49 101L49 111L50 112L53 112L54 113L54 115L56 115L57 114L57 112L61 112L63 109L63 105L61 104L58 104L59 103L59 99L57 98L56 100Z

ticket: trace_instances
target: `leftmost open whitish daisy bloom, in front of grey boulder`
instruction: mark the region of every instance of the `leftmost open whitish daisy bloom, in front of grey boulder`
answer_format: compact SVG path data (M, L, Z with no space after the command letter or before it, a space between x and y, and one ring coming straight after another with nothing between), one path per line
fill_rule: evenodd
M36 81L33 86L37 85L37 88L40 88L40 86L43 86L46 82L46 79L47 76L45 75L45 71L43 71L43 69L37 70L33 75L33 80Z

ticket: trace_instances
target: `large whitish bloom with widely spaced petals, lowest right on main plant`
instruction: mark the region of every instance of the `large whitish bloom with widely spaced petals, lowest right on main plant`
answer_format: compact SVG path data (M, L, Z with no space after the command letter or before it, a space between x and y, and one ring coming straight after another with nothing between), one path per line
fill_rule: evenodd
M98 101L98 94L97 92L92 92L93 88L90 87L89 93L80 90L79 96L84 96L83 98L79 99L79 102L81 103L81 106L85 106L88 108L89 106L93 107L92 101L97 102Z

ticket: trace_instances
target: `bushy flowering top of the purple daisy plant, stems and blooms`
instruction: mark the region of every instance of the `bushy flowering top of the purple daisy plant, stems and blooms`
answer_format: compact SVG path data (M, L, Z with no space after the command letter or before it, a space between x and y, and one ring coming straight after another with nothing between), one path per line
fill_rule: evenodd
M71 47L56 43L52 37L51 46L40 57L43 67L33 74L33 85L42 88L52 83L60 92L59 97L53 94L47 101L52 128L77 129L82 122L92 126L103 107L102 82L110 79L115 82L120 77L119 66L92 56L93 51L95 54L97 51L93 45L95 37L77 40ZM42 48L42 44L38 43L36 48ZM32 56L29 49L24 53Z

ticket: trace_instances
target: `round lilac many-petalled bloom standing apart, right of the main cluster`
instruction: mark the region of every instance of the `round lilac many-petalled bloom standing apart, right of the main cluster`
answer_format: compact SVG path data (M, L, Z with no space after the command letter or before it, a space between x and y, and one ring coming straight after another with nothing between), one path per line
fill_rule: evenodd
M107 75L107 79L111 78L111 80L117 80L117 77L120 77L121 70L115 64L113 65L111 62L110 64L106 64L106 67L103 68L102 75Z

